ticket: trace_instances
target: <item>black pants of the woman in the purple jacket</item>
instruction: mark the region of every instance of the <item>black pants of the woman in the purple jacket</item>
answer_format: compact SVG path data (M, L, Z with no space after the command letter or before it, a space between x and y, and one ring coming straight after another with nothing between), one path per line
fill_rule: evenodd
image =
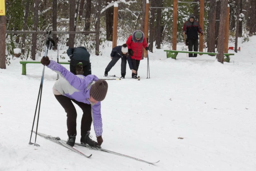
M67 113L67 126L68 126L68 136L77 135L77 111L72 103L76 103L83 111L82 121L81 121L81 136L85 136L87 131L91 130L92 126L92 111L91 105L70 99L63 95L54 95L60 105L65 109Z

